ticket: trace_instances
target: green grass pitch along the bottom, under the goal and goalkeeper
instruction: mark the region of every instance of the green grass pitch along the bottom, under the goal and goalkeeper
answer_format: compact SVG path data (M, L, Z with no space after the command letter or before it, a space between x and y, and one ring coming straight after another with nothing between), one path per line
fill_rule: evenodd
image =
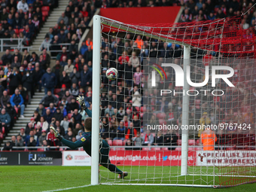
M120 183L179 183L183 184L211 184L212 176L184 176L177 177L180 167L161 166L120 166L128 172L133 172L124 180L118 180L117 175L108 172L101 167L100 175L102 182L119 181ZM192 168L191 168L192 169ZM197 168L202 169L202 168ZM189 170L190 171L190 170ZM197 172L199 170L194 170ZM203 171L203 170L201 170ZM211 169L208 169L211 171ZM145 172L148 172L146 175ZM172 172L170 177L169 172ZM163 175L163 177L161 177ZM107 179L108 178L108 179ZM202 178L202 179L201 179ZM186 180L186 181L184 181ZM204 187L172 187L172 186L147 186L147 185L103 185L79 187L90 184L90 166L1 166L0 167L0 191L62 191L65 188L74 187L64 191L255 191L256 184L242 184L236 187L221 189ZM75 188L77 187L77 188Z

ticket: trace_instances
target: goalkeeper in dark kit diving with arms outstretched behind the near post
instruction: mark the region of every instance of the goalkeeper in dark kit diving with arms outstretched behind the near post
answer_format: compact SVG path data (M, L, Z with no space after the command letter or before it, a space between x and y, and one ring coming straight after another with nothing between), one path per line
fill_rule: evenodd
M70 142L69 140L66 140L62 138L62 136L59 135L59 132L57 132L53 126L50 126L50 129L53 130L54 135L56 139L59 139L63 144L67 145L69 148L75 149L83 147L84 151L87 152L91 156L91 135L92 135L92 111L90 111L85 103L84 103L84 96L78 96L77 97L78 102L81 105L81 110L85 110L89 117L87 117L84 120L84 133L82 133L81 138L76 142ZM96 127L96 129L99 129L99 127ZM102 142L99 145L99 164L104 166L105 168L109 169L111 172L119 174L117 178L124 178L128 175L128 172L122 172L120 169L117 168L117 166L111 164L108 154L110 151L110 147L108 145L108 142L105 140L102 140Z

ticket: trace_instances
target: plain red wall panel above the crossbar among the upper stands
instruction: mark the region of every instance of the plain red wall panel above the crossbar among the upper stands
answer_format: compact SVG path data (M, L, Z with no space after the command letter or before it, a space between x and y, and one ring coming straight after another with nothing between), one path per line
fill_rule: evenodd
M174 23L181 7L101 8L100 15L123 23Z

